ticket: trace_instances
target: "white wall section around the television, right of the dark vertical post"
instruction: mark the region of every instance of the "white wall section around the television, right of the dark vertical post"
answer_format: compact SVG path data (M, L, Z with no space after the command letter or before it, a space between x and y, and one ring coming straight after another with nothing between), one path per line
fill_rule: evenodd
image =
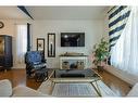
M85 31L85 46L81 48L62 48L60 46L60 33L62 31ZM36 39L46 39L47 56L47 34L55 33L55 57L47 57L48 67L60 67L59 55L64 52L78 52L89 55L95 43L100 41L103 35L103 21L35 21L33 22L33 50L36 50ZM91 63L88 63L89 66Z

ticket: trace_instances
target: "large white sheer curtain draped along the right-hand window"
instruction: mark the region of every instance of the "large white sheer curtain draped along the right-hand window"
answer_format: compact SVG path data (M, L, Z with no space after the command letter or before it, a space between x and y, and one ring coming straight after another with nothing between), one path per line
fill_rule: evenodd
M126 26L111 51L111 64L129 74L138 74L138 7L131 7Z

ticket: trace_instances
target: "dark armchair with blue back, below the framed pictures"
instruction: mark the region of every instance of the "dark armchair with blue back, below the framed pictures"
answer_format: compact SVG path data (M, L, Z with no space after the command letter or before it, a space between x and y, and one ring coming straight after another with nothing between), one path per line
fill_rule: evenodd
M36 76L39 78L48 75L46 60L40 51L28 51L25 54L25 63L27 77Z

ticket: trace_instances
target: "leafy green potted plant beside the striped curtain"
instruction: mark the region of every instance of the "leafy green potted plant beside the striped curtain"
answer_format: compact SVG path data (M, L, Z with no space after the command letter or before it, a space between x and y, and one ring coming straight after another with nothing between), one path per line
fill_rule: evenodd
M104 38L101 39L99 44L93 46L93 52L92 52L92 63L95 64L98 72L103 70L103 63L106 62L110 52L109 52L109 42L104 40Z

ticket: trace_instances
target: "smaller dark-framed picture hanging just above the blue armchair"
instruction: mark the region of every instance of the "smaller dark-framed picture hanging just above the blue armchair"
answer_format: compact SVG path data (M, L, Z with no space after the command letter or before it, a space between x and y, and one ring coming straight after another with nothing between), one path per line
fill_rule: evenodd
M37 38L37 51L41 51L45 54L45 38Z

